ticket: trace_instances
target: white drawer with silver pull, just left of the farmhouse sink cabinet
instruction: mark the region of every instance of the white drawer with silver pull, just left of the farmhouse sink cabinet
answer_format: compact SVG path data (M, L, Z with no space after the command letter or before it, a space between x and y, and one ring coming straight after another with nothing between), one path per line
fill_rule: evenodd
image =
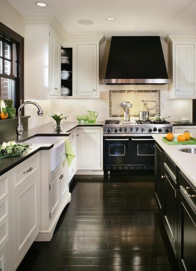
M20 185L26 178L33 175L39 167L39 157L36 156L35 158L28 161L28 159L23 162L19 168L14 172L14 184L15 187Z

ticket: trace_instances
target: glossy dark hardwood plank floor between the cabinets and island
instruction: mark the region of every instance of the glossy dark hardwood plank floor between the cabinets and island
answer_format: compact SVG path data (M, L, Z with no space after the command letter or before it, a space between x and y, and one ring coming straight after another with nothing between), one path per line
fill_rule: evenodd
M178 271L154 197L154 176L75 176L50 242L17 271Z

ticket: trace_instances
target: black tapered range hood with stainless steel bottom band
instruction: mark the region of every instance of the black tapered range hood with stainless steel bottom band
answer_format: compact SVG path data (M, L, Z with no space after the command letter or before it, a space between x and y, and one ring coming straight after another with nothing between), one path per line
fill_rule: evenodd
M112 36L106 85L170 84L159 36Z

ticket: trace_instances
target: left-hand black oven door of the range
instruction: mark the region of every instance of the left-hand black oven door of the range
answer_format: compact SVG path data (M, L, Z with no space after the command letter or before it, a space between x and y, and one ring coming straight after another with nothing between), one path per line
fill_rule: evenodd
M130 164L130 137L103 137L103 165Z

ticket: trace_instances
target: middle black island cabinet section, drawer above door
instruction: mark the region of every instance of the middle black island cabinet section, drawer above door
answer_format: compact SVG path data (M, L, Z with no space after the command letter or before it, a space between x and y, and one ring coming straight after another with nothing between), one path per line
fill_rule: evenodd
M163 222L176 255L177 246L177 167L164 153Z

